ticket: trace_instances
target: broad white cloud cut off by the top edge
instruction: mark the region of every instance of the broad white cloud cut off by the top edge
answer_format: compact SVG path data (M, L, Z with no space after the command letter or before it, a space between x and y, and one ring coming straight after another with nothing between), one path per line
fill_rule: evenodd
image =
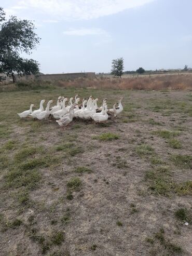
M89 20L117 14L155 0L25 0L19 6L29 7L57 20Z

